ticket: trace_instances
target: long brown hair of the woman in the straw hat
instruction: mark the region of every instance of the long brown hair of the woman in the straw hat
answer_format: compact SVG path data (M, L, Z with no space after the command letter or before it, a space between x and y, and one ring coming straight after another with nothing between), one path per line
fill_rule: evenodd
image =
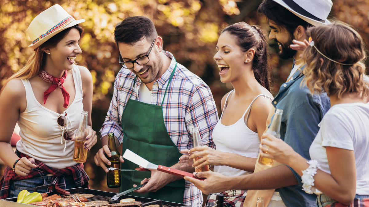
M37 75L38 72L41 71L43 69L43 66L45 65L46 53L44 52L44 50L55 47L60 42L60 40L62 40L73 28L78 30L79 35L82 35L83 29L77 24L59 32L58 34L41 44L39 47L34 49L34 53L31 55L31 57L28 58L27 63L24 65L24 67L8 78L3 86L3 89L11 79L30 79L33 76Z

